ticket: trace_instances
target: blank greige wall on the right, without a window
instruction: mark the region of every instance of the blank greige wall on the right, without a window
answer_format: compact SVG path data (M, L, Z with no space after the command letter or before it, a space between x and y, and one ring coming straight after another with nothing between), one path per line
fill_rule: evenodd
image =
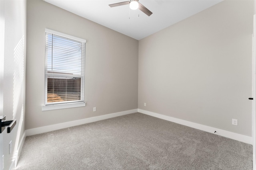
M253 6L223 1L140 40L138 108L252 136Z

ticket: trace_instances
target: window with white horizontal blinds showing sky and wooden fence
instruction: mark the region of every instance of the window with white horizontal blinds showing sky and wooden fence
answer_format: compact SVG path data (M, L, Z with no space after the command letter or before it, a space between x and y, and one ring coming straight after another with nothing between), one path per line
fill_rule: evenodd
M46 29L44 106L84 103L85 43Z

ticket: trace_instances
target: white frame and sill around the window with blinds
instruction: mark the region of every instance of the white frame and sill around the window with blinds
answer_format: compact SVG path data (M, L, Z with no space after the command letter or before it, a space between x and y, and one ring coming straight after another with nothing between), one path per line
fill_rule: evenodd
M45 33L46 32L54 34L54 35L58 35L58 36L61 36L61 37L65 37L65 38L68 38L68 39L73 39L73 40L76 40L76 41L81 41L81 42L86 43L85 39L81 39L81 38L78 38L78 37L74 37L72 35L60 33L58 31L54 31L54 30L51 30L51 29L45 29ZM46 44L45 44L45 47L46 47ZM45 60L46 60L46 55L45 55ZM44 69L45 69L44 81L47 81L46 79L47 79L48 76L50 76L50 74L46 73L46 62L45 62L45 68ZM84 69L83 70L85 71L85 56L84 56ZM57 74L55 74L55 76L57 76ZM77 77L79 77L79 76L77 76ZM81 81L83 81L83 82L81 82L81 85L84 86L85 73L83 72L83 75L80 76L80 77L81 77ZM81 86L81 88L82 88L82 86ZM84 87L82 89L83 89L83 92L81 92L81 101L47 103L47 82L44 82L44 105L42 106L42 111L86 106L86 102L84 102Z

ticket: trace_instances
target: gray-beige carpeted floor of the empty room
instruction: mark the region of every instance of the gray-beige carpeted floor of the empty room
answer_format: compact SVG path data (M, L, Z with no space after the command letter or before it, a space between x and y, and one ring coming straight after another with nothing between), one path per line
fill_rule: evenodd
M252 145L133 113L26 137L18 170L252 170Z

